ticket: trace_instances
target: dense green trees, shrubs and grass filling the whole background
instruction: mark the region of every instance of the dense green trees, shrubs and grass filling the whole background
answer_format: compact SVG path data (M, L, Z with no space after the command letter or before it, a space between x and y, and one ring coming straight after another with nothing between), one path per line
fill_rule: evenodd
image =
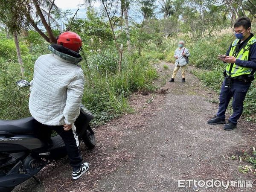
M86 78L83 103L96 115L99 124L131 112L128 96L132 92L156 89L152 82L157 72L152 63L174 62L174 50L180 39L186 41L191 52L190 64L202 69L193 73L218 92L224 64L216 57L224 54L233 41L230 26L237 17L255 17L255 9L244 0L237 1L244 6L236 0L166 0L161 1L161 5L156 0L101 1L99 10L87 7L86 18L68 18L69 11L58 9L55 4L50 8L51 0L40 0L39 5L31 0L2 2L0 119L29 116L29 90L15 85L15 81L21 79L22 67L17 56L23 60L24 78L32 80L35 60L49 53L49 42L54 43L61 31L77 32L83 40L81 64ZM226 6L227 3L230 6ZM15 10L18 7L20 11ZM47 14L40 15L35 9L45 9ZM135 11L136 16L129 16L128 10ZM18 55L17 38L15 41L12 37L15 34L20 40ZM256 116L254 98L255 84L244 105L244 113L253 120Z

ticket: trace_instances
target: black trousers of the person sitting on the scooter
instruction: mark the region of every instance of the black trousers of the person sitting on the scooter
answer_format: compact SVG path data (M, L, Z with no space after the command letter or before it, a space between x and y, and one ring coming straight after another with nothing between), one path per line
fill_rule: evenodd
M43 138L44 140L49 139L51 137L52 130L56 131L64 141L65 147L67 149L67 156L70 159L70 166L72 166L74 169L80 168L83 158L79 152L79 142L76 133L72 129L65 131L63 125L43 125L40 128L39 137Z

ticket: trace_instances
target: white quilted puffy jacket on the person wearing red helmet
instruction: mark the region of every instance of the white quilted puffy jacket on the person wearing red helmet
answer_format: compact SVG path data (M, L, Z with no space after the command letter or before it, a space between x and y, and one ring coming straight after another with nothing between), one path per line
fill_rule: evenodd
M78 65L55 54L42 55L35 62L29 111L44 125L71 125L79 116L83 91Z

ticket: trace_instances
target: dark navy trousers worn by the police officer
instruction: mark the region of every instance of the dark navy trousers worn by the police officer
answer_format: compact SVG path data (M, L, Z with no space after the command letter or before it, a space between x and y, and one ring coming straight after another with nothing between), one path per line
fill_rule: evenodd
M220 93L220 103L217 116L219 118L225 119L225 113L230 99L233 97L232 108L233 114L230 116L229 121L237 124L237 120L240 118L243 108L244 99L251 83L244 83L236 79L233 80L231 87L225 87L225 78Z

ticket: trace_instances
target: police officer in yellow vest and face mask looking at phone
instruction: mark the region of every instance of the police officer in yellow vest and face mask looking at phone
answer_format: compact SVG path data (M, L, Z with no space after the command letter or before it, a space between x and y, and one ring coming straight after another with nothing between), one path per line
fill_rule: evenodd
M221 87L218 113L208 124L226 123L225 112L233 97L233 114L224 125L224 130L228 131L236 128L237 120L243 112L246 93L256 71L256 38L250 31L250 19L240 17L234 25L236 40L230 45L226 55L218 55L221 61L227 63L227 67L224 71L225 79Z

